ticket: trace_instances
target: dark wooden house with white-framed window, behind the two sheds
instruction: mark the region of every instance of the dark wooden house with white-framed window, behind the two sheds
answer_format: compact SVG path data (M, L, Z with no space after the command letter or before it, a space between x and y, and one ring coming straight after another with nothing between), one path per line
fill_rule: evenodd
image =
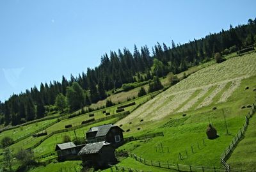
M124 130L113 124L100 125L90 128L86 132L86 139L88 143L106 141L117 148L124 143L123 132Z

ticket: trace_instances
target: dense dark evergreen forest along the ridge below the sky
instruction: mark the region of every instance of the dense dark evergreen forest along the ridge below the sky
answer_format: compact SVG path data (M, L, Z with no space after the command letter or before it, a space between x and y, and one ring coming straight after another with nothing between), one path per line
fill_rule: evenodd
M13 94L0 102L0 124L17 125L45 116L54 107L61 111L68 106L75 111L106 98L106 91L121 88L125 83L148 81L154 75L162 77L169 72L177 74L213 58L216 52L229 54L256 42L256 19L227 31L209 34L205 38L183 45L158 43L150 49L147 45L131 52L124 48L101 57L95 68L87 68L78 77L62 77L62 81L41 83L19 95Z

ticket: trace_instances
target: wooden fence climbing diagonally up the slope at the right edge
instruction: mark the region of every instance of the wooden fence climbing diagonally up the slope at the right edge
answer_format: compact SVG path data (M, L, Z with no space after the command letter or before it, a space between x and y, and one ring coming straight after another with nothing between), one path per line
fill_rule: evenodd
M236 148L237 144L241 139L243 139L244 132L246 132L246 129L249 124L250 118L252 118L252 115L255 113L255 104L253 104L252 108L250 109L250 112L245 116L245 122L242 128L239 129L236 136L232 139L231 143L225 148L224 152L220 156L221 163L226 168L227 171L231 171L230 166L227 164L227 160L230 157L233 150Z

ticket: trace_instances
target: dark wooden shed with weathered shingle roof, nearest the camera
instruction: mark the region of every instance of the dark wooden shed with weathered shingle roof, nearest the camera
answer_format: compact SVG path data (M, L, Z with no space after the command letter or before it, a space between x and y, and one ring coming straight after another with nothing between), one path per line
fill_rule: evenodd
M88 143L80 150L78 155L83 160L85 166L95 169L106 168L117 163L115 147L105 141Z

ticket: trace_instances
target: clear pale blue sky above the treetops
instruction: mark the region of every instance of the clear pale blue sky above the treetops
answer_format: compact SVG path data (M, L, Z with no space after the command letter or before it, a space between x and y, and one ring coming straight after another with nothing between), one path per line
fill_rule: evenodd
M70 79L105 52L185 43L246 24L256 1L1 0L0 100Z

